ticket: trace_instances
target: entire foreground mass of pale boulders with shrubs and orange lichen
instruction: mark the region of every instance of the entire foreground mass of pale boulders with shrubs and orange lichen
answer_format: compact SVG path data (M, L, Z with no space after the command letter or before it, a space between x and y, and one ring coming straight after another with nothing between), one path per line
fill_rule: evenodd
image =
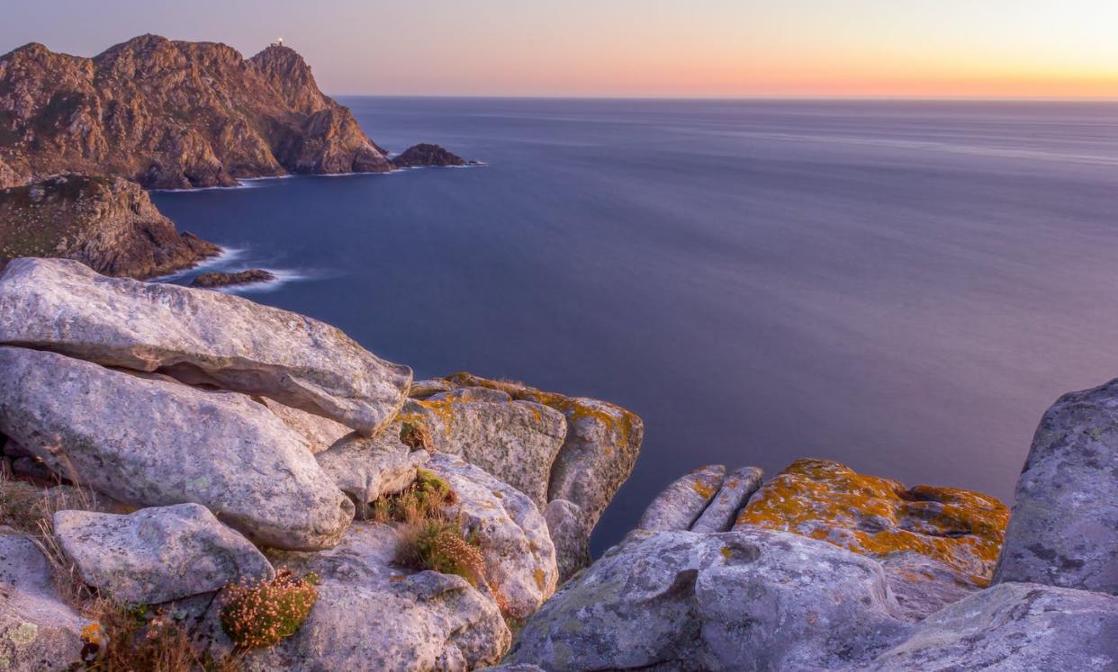
M824 460L707 465L591 561L631 411L19 258L0 668L1114 670L1116 390L1045 414L1012 515Z

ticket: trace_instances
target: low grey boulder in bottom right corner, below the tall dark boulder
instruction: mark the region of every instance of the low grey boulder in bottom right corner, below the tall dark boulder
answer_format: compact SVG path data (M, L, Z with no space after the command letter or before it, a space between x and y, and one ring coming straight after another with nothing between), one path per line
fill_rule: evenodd
M1038 584L1001 584L932 614L863 669L1118 669L1118 597Z

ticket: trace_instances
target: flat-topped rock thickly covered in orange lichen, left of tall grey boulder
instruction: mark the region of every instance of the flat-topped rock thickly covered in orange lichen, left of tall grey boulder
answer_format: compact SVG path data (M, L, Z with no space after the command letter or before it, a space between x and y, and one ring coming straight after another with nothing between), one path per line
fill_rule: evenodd
M767 483L737 524L795 532L884 558L916 552L989 585L1010 511L978 492L858 474L837 462L798 460Z

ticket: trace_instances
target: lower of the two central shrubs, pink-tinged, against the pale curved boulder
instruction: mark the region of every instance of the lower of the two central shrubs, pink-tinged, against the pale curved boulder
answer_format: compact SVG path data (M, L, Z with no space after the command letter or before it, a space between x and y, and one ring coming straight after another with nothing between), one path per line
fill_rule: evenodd
M485 580L485 564L477 546L458 526L444 519L410 523L400 530L396 561L411 569L456 574L477 587Z

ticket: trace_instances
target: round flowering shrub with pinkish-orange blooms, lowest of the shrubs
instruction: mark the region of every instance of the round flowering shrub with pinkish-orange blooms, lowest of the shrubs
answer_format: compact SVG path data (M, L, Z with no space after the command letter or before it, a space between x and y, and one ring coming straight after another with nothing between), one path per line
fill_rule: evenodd
M319 577L296 578L283 568L274 579L241 581L226 586L221 630L238 649L278 644L295 634L319 599Z

